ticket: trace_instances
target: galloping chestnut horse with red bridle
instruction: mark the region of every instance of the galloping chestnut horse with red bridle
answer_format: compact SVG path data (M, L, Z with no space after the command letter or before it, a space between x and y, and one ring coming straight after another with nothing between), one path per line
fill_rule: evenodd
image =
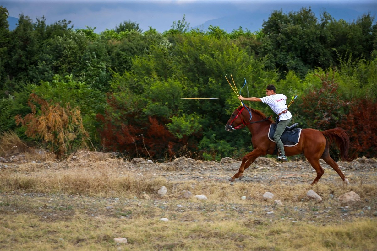
M271 117L267 118L261 111L245 106L239 106L230 116L227 125L225 125L225 130L230 132L231 130L247 126L252 135L251 143L253 144L254 150L242 158L242 163L238 172L229 178L229 181L234 181L236 178L241 180L244 176L245 169L247 169L257 157L273 154L276 143L269 140L267 134L271 123L275 122L270 120L270 118ZM323 168L319 164L320 158L326 161L326 163L339 174L345 184L348 184L348 179L346 179L342 171L339 169L338 164L329 155L329 146L333 140L340 149L340 158L343 161L354 160L356 152L352 157L348 157L349 137L348 134L340 128L329 129L326 131L318 131L311 128L302 129L297 145L284 146L285 155L292 156L301 153L305 155L311 166L313 166L314 170L317 172L316 178L313 183L311 183L312 185L317 183L324 173Z

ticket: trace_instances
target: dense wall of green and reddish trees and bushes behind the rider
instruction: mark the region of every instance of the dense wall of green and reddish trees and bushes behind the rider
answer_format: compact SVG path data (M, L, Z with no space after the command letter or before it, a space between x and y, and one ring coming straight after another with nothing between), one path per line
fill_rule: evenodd
M88 135L95 149L154 160L242 157L252 150L250 132L224 130L239 105L228 79L243 96L265 96L268 84L288 98L298 94L292 122L345 128L353 150L376 155L377 26L369 14L347 23L326 12L319 20L306 8L273 11L255 33L189 30L185 17L163 33L143 32L131 21L95 33L23 14L10 31L7 17L0 7L1 132L13 130L55 151L60 141L48 143L46 131L37 137L32 125L40 126L43 116L80 111L80 119L67 121L70 133L78 133L72 142ZM49 113L28 106L30 94ZM272 114L261 102L248 105ZM75 148L64 144L59 156Z

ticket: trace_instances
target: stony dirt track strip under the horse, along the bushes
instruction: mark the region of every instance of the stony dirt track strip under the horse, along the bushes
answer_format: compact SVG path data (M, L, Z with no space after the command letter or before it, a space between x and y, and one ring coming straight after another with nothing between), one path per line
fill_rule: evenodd
M94 158L95 157L95 158ZM97 161L106 161L110 155L93 152L81 152L77 157L63 161L17 161L12 163L0 163L1 170L27 169L34 165L40 170L59 170L72 166L90 167ZM320 178L319 183L339 183L342 184L340 176L325 161L320 160L325 173ZM343 174L348 178L349 183L356 184L376 184L377 182L377 159L357 158L352 162L337 162ZM130 170L143 178L156 178L162 176L168 181L187 181L187 180L210 180L223 181L230 183L228 178L238 172L241 161L229 157L223 158L220 162L200 161L192 158L179 157L171 162L153 163L141 158L133 158L130 161L118 159L111 161L109 166L115 169ZM84 167L84 169L85 169ZM33 168L34 169L34 168ZM278 162L270 158L258 157L251 166L245 170L241 181L244 183L282 183L285 185L311 184L316 178L316 172L308 161L288 161ZM377 184L376 184L377 185Z

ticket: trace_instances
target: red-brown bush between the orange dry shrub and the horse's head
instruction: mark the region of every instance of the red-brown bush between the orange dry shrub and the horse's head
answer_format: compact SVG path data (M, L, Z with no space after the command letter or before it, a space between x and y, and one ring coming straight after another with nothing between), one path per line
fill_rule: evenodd
M177 148L185 143L164 126L169 120L145 116L141 109L132 111L126 103L120 104L112 96L108 97L107 102L110 109L104 115L97 114L97 120L103 124L98 132L106 150L118 151L130 157L165 159L172 157Z

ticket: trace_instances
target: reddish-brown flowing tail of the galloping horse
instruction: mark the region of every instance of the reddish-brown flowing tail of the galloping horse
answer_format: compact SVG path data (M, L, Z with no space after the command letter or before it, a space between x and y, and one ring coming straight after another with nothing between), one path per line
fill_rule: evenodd
M336 145L340 149L340 158L343 161L352 161L356 157L356 152L352 157L348 157L348 148L349 148L349 136L348 134L340 128L328 129L322 132L323 135L328 139L328 147L330 147L333 140L335 140Z

